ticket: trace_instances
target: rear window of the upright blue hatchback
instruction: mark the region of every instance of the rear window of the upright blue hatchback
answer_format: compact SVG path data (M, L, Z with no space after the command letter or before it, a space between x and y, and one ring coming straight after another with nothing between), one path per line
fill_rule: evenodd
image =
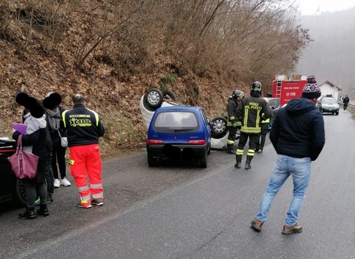
M196 114L189 111L166 111L157 115L155 130L173 132L176 130L194 131L198 128Z

